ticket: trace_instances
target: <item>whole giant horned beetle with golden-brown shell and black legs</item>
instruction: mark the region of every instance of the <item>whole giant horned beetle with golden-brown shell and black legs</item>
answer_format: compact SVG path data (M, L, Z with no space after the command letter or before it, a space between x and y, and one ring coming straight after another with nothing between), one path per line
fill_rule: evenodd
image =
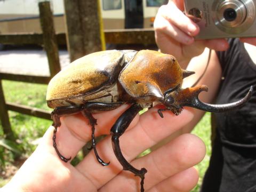
M70 63L55 75L47 89L47 105L54 108L52 112L53 146L62 161L63 157L56 145L57 127L60 117L81 113L89 118L92 126L92 148L101 165L102 161L95 148L94 130L96 119L92 113L113 110L131 103L111 128L111 140L114 153L124 170L129 170L141 178L141 191L144 191L143 180L147 170L135 169L122 155L119 137L124 133L132 119L143 108L150 107L153 102L161 103L164 109L179 115L183 106L197 109L222 112L241 107L252 95L252 86L246 96L236 102L223 105L210 105L201 102L198 94L207 91L205 85L181 89L182 79L194 72L180 68L178 61L169 54L157 51L142 50L110 50L95 52Z

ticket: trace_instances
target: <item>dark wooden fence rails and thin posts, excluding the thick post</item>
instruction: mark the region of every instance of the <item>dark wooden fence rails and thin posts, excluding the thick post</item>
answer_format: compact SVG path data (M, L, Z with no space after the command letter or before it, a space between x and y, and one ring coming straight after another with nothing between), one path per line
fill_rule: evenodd
M51 114L49 111L18 105L17 103L5 102L2 88L3 79L48 84L51 77L57 74L60 70L58 44L67 44L66 34L55 34L53 27L53 16L49 2L40 2L39 12L43 34L0 35L0 43L2 44L44 45L50 68L50 76L0 73L0 116L6 138L11 140L14 140L14 136L7 113L8 110L17 111L18 113L40 118L51 119ZM109 44L155 44L153 29L105 30L104 34L105 41Z

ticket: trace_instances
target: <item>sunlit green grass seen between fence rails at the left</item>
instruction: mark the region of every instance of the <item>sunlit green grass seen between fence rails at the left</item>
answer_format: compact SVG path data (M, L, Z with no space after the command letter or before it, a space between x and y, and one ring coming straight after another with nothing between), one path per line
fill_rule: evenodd
M46 85L21 83L12 81L2 81L5 101L19 103L30 107L37 107L51 111L45 102ZM9 118L14 135L18 138L19 147L23 149L22 157L28 157L36 148L33 141L41 138L46 129L51 125L51 121L36 118L20 113L9 111ZM3 138L3 129L0 124L0 139ZM15 164L15 156L7 149L0 150L5 159L5 167ZM2 167L2 169L1 169ZM0 166L0 187L10 178L2 178L3 166Z

